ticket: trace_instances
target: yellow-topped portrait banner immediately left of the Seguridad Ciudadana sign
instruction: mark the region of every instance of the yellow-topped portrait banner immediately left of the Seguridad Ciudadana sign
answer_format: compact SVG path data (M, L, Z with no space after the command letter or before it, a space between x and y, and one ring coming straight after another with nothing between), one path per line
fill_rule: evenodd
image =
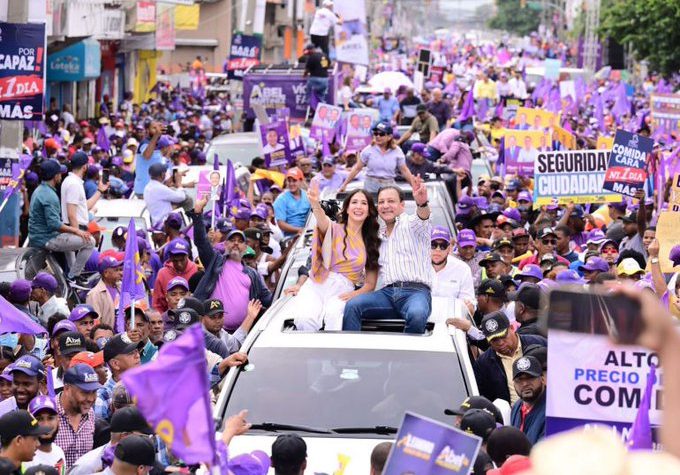
M510 175L533 176L536 155L552 150L550 134L542 130L506 129L503 137L505 172Z

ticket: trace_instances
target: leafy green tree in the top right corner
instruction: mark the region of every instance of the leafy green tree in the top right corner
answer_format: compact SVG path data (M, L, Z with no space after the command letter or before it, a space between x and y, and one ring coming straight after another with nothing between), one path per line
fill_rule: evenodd
M631 44L637 59L669 76L680 70L680 0L619 0L601 10L600 32Z

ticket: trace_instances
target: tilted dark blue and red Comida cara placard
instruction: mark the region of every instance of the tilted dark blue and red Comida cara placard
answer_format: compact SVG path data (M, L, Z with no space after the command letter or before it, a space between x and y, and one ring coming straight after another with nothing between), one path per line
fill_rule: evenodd
M617 130L602 187L622 195L635 196L647 179L647 158L653 147L654 140L648 137Z

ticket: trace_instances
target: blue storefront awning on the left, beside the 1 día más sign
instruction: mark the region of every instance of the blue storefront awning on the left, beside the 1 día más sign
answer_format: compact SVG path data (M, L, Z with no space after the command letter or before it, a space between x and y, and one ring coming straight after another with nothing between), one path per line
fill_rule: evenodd
M101 73L99 41L88 38L47 55L47 81L84 81Z

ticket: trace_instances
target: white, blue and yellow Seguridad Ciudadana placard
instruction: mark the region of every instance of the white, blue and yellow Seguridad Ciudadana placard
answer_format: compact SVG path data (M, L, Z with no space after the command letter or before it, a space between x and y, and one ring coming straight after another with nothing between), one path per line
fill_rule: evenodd
M534 207L548 204L620 202L602 189L609 150L539 152L534 161Z

